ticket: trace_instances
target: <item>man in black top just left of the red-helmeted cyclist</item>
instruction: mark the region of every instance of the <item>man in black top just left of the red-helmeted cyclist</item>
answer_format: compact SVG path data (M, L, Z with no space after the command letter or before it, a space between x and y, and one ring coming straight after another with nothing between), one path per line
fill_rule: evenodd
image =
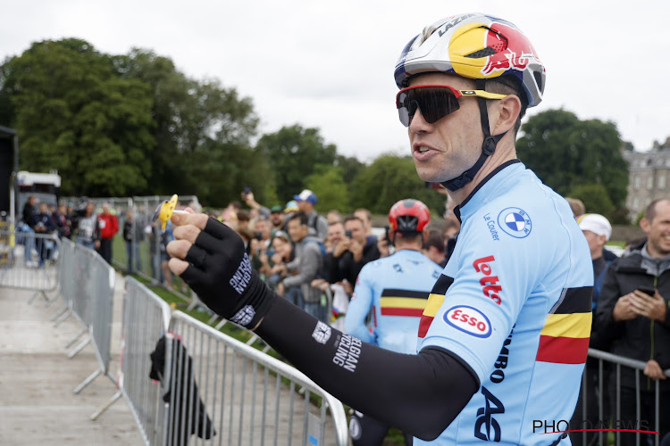
M347 279L350 284L356 284L361 268L380 258L377 242L367 239L361 219L348 217L344 220L344 229L345 237L332 252L333 260L328 274L331 284L343 279Z

